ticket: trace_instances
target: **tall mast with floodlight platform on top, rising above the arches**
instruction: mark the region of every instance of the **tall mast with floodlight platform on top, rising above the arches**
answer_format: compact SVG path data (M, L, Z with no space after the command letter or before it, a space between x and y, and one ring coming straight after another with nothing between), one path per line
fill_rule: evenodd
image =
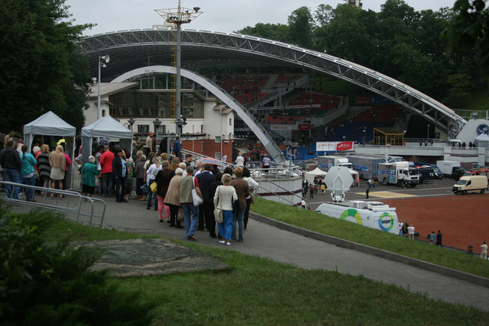
M181 77L180 77L180 65L181 65L181 24L188 24L192 20L196 19L202 13L199 11L199 7L194 7L194 9L182 8L180 6L180 0L178 0L178 8L173 9L158 9L155 10L161 17L165 19L166 22L174 23L177 26L177 85L175 89L176 95L176 107L175 116L180 116L180 89L181 89ZM177 122L175 122L177 123Z

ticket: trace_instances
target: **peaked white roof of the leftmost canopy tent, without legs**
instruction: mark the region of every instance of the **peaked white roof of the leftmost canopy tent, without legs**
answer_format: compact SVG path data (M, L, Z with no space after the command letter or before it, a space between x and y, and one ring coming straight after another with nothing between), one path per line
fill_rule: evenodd
M49 111L36 120L24 125L24 133L50 136L74 136L76 128L66 123L52 111Z

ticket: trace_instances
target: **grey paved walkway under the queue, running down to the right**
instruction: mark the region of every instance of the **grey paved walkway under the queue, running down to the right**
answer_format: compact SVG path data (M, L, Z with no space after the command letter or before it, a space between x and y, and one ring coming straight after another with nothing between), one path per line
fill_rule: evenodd
M146 210L145 202L130 200L128 203L116 203L115 198L105 199L107 213L104 227L185 239L184 229L170 228L166 222L160 223L157 212L153 208ZM433 299L489 310L487 287L306 238L253 219L248 222L244 242L233 242L229 247L223 246L217 239L211 239L207 232L197 231L195 236L200 244L237 250L302 268L337 268L341 273L363 275L383 283L409 287L411 291L427 292Z

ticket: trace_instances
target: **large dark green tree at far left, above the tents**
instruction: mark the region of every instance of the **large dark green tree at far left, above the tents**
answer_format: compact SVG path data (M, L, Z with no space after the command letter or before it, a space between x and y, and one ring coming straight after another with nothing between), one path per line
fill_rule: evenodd
M91 79L75 42L91 24L74 25L65 0L3 0L0 11L0 130L52 110L81 129Z

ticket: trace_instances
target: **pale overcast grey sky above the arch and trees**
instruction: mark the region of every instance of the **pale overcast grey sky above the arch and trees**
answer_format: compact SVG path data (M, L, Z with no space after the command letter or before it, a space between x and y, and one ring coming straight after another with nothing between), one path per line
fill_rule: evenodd
M405 0L415 10L453 6L455 0ZM362 0L364 9L380 11L385 0ZM344 1L337 0L183 0L182 6L200 7L203 14L183 28L211 31L233 32L257 22L287 23L290 13L300 6L307 5L314 11L318 4L325 3L336 7ZM177 0L67 0L69 12L75 23L96 23L86 30L85 35L112 31L152 28L163 24L155 9L175 8Z

